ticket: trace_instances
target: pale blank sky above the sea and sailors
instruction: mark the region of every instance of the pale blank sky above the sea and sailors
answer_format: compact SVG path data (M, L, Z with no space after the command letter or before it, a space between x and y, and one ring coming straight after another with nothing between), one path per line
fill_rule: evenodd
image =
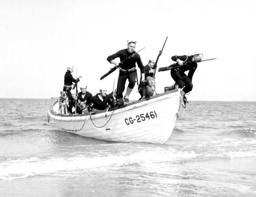
M1 0L0 97L58 97L67 66L78 86L110 93L118 70L99 80L114 66L107 56L135 39L146 65L168 36L158 68L173 55L217 58L198 64L188 100L256 101L255 21L255 0ZM155 76L158 93L174 83L169 71Z

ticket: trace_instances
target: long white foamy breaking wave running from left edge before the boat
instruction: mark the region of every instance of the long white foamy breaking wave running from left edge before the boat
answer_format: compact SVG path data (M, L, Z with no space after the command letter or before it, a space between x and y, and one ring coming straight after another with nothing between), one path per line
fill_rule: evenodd
M26 178L28 176L59 173L67 170L78 170L98 168L103 166L143 165L147 163L165 162L166 160L176 161L177 159L189 159L196 157L195 152L177 152L172 154L157 153L154 151L135 153L131 155L111 155L105 157L88 158L83 155L76 157L60 157L41 159L39 157L22 158L16 160L7 159L0 164L2 169L0 179ZM61 174L61 173L60 173Z

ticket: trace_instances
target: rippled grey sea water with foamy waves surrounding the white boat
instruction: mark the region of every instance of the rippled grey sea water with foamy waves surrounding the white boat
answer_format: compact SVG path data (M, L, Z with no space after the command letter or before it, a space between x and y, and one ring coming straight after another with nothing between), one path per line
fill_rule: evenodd
M163 145L58 131L52 102L0 99L0 196L256 196L256 102L190 101Z

